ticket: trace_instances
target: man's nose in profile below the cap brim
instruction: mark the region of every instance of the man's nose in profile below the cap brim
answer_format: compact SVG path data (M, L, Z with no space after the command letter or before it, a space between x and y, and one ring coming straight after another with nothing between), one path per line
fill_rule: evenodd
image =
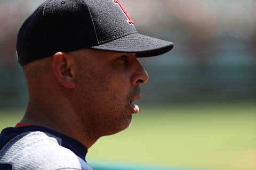
M133 85L141 85L141 84L146 83L149 79L147 71L139 63L138 60L136 60L135 65L136 66L134 68L134 74L133 74L132 79L131 79L132 84Z

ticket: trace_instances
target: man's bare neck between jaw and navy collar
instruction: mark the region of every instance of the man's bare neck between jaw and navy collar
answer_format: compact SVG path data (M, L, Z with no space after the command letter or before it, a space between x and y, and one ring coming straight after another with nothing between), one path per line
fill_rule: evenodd
M57 102L54 102L53 106L53 103L49 105L49 101L47 104L47 101L30 100L20 123L43 126L60 132L83 143L86 148L90 148L98 140L89 135L89 130L84 126L86 120L82 120L68 103L58 105Z

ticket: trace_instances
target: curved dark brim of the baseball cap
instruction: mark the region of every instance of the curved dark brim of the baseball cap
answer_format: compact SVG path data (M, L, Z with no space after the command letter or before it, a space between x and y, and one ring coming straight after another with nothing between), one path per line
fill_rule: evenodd
M91 48L122 53L136 53L136 57L151 57L167 53L173 46L174 44L168 41L133 33Z

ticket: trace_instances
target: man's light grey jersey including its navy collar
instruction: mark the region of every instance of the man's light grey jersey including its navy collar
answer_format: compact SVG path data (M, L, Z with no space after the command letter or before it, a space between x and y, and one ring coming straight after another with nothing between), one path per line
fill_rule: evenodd
M82 143L41 126L6 128L0 134L1 170L92 170L86 153Z

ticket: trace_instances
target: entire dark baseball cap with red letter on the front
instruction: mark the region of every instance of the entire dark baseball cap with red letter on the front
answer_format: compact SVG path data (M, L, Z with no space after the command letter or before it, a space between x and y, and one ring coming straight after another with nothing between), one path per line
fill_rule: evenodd
M17 39L21 66L82 48L164 54L173 43L141 35L119 0L48 0L22 24Z

